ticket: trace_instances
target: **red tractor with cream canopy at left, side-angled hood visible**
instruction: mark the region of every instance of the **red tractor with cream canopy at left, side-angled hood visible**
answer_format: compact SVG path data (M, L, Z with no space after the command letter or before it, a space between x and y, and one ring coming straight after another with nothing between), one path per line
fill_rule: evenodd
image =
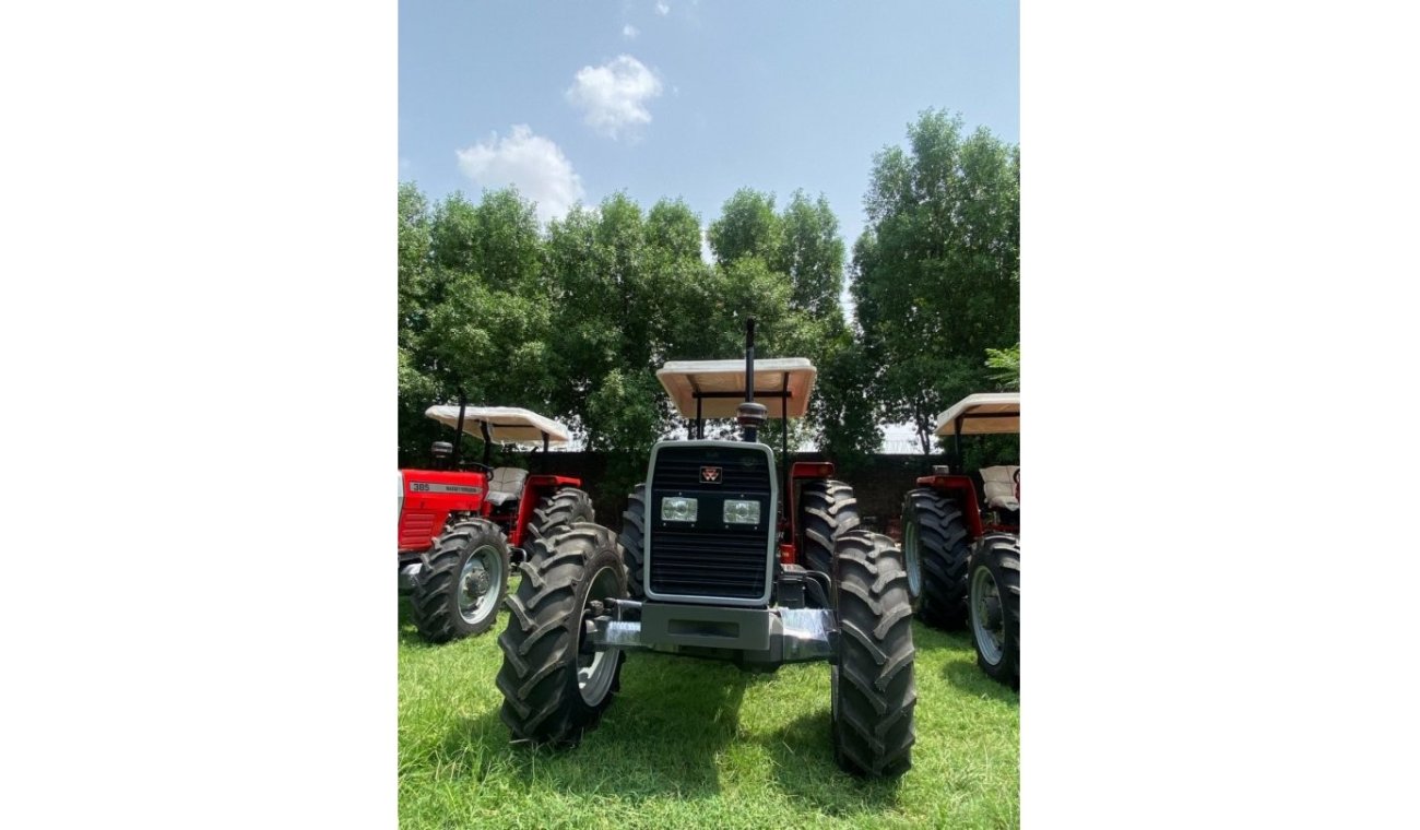
M503 406L432 406L425 414L483 440L481 463L460 463L454 444L437 441L443 470L399 471L400 593L419 633L447 643L493 626L525 546L595 512L579 478L488 467L494 443L541 443L547 453L567 443L565 426Z

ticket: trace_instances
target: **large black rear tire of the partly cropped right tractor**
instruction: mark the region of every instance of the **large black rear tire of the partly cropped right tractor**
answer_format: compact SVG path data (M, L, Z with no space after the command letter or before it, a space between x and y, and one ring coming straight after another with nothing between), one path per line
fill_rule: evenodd
M907 491L902 502L903 553L907 566L916 560L920 573L920 594L913 597L917 616L934 629L966 626L970 541L956 499L924 487Z

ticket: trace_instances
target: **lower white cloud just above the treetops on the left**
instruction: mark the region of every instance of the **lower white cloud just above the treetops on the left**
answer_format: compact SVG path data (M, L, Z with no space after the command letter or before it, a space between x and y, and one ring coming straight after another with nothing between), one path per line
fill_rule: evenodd
M525 123L513 126L513 135L457 150L459 169L481 187L514 184L524 197L537 203L541 221L561 217L582 199L582 177L572 162L551 139L532 135Z

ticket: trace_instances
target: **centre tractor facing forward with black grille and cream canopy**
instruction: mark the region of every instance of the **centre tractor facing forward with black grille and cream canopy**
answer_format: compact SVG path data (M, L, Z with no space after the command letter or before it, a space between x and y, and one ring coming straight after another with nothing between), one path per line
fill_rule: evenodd
M828 661L834 756L869 778L912 766L916 678L902 552L859 528L834 465L778 464L765 419L802 417L816 370L804 358L669 362L657 373L686 440L650 451L619 535L581 522L538 539L498 638L501 716L514 741L577 745L621 688L632 651L721 660L748 671ZM764 402L764 403L761 403ZM704 438L734 417L740 440Z

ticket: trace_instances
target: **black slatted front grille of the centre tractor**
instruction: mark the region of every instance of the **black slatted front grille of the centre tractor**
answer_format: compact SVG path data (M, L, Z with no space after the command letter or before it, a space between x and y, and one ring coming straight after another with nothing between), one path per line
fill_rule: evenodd
M701 468L714 467L716 482ZM652 465L648 499L649 589L659 596L763 600L772 566L774 470L754 444L694 441L662 444ZM666 497L694 498L694 522L663 521ZM760 502L758 525L727 525L726 499Z

